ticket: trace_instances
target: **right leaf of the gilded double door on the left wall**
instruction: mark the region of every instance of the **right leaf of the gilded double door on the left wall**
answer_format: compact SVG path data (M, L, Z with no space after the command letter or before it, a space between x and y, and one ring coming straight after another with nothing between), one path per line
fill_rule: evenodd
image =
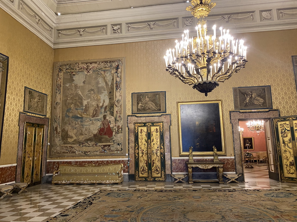
M35 142L34 174L33 183L41 181L41 160L43 149L43 128L37 127Z

